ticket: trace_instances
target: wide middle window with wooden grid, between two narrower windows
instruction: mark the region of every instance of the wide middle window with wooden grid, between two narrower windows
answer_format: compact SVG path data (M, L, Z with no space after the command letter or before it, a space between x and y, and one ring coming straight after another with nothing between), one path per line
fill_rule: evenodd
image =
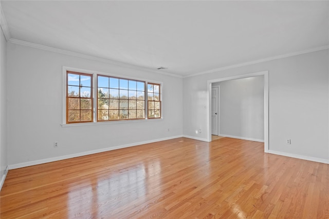
M145 82L97 75L97 121L145 118Z

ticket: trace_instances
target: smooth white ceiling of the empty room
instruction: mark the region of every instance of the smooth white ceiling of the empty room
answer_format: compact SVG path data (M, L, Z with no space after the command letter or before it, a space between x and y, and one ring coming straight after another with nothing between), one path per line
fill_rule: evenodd
M1 1L11 38L182 76L327 46L328 3Z

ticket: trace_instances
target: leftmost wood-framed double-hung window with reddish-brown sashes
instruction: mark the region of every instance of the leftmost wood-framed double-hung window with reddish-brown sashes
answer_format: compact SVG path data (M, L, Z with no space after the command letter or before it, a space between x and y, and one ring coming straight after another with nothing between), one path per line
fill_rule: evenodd
M93 75L67 71L66 123L93 122Z

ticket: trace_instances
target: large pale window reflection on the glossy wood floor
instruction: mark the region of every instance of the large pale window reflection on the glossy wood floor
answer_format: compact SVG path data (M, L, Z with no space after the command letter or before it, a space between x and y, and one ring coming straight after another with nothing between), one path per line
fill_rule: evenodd
M131 169L113 171L98 182L74 183L68 192L68 218L89 215L90 217L111 216L124 210L127 203L136 205L145 201L149 192L146 185L161 185L161 164L158 160L141 163ZM80 188L80 189L75 189ZM149 188L150 189L150 188ZM111 203L111 204L109 204ZM115 205L113 205L115 203ZM74 206L78 206L75 208Z

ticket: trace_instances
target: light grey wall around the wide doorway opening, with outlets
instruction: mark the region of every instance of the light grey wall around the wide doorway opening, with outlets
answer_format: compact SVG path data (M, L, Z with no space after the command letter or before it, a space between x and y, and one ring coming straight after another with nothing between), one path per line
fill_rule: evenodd
M207 140L208 80L268 70L269 152L328 163L328 58L326 49L184 78L184 135Z

